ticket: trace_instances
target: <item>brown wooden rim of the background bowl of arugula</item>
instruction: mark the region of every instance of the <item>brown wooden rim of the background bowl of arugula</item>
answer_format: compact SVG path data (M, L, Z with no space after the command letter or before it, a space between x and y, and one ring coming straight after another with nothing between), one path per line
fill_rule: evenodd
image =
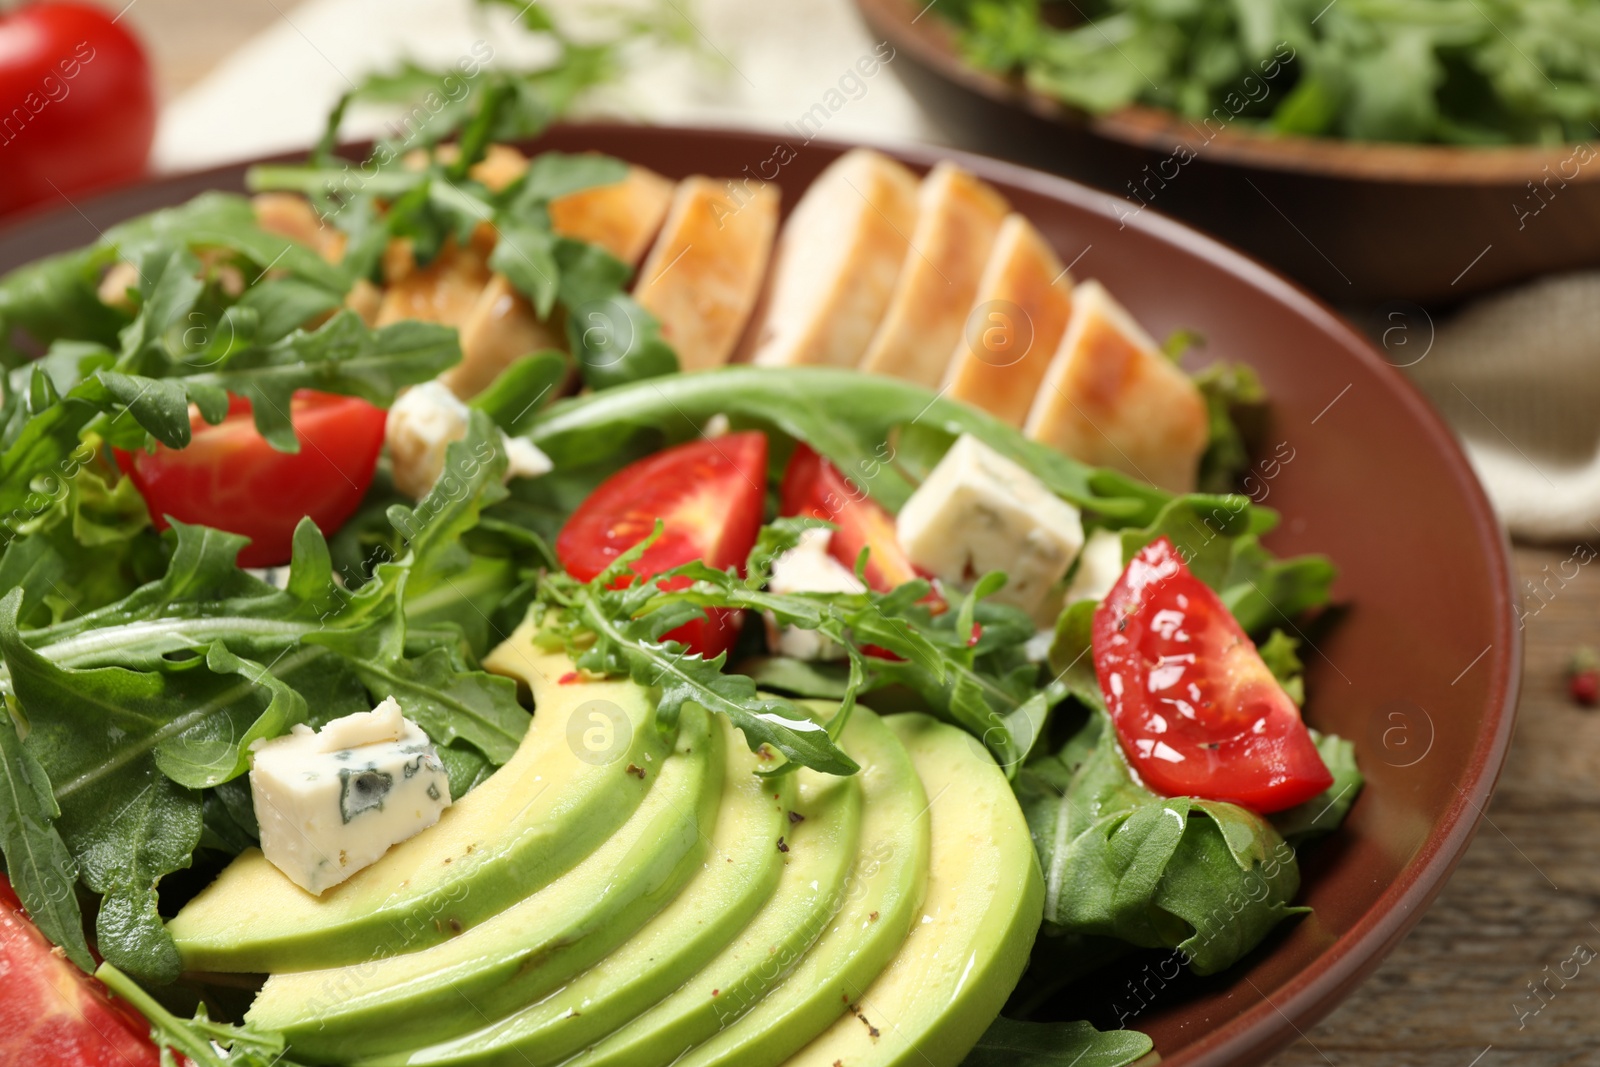
M934 5L912 16L920 6L912 0L854 0L854 3L874 32L962 88L1037 118L1085 128L1107 141L1162 155L1184 149L1208 162L1232 166L1419 186L1520 186L1539 176L1546 176L1546 181L1554 178L1563 186L1600 182L1600 168L1587 166L1600 155L1600 144L1587 141L1563 146L1472 147L1341 141L1234 125L1208 133L1192 118L1147 104L1131 104L1106 115L1093 115L1029 88L1019 75L1000 75L968 64L955 48L955 35L949 24L938 18L923 18L934 11ZM1216 110L1219 109L1213 109L1211 114ZM1579 154L1586 154L1582 160L1578 158ZM1562 170L1568 163L1576 163L1573 174Z

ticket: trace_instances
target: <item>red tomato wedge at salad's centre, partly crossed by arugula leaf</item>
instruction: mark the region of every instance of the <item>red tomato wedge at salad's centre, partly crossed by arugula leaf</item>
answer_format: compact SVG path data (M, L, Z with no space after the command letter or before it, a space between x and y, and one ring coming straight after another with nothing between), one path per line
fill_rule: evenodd
M728 434L690 442L622 467L589 494L555 539L555 557L578 581L590 581L650 536L661 537L634 563L643 577L691 560L744 568L766 504L766 435ZM675 585L682 589L688 582ZM706 619L667 633L707 657L733 648L739 611L712 608Z

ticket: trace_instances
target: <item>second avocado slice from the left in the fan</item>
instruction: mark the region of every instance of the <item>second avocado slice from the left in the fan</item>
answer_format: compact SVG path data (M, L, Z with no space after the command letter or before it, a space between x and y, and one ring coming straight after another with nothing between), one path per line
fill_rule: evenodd
M246 1022L282 1032L296 1057L342 1064L466 1033L544 998L627 941L704 865L723 769L722 726L685 707L672 755L659 771L640 769L653 781L645 801L576 867L443 944L274 974Z

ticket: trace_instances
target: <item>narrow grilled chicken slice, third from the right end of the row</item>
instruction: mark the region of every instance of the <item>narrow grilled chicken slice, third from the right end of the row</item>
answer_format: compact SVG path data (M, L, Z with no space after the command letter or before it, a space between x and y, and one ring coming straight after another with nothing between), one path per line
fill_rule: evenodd
M917 200L910 250L861 370L938 387L1008 206L954 163L934 166Z

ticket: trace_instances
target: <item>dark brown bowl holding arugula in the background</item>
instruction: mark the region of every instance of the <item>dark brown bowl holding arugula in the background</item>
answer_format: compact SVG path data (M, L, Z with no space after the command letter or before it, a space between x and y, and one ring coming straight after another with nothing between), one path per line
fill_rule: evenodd
M1600 264L1600 146L1283 138L1152 107L1091 117L963 62L926 0L856 3L952 142L1085 181L1122 211L1147 202L1338 306L1453 302Z

